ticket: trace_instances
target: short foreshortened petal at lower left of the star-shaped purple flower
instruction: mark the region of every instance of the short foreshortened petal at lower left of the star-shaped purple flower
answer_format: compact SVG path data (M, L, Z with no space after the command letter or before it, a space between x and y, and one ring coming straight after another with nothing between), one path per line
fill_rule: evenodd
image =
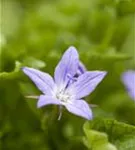
M43 107L45 105L61 105L60 101L58 99L53 98L52 96L47 96L47 95L40 95L39 100L37 102L37 107Z

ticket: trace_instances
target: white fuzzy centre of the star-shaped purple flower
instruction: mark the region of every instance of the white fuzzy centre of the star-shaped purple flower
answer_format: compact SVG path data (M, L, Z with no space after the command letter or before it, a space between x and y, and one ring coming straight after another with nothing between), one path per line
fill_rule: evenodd
M56 94L56 98L59 99L61 102L69 102L71 100L71 95L65 91L59 91Z

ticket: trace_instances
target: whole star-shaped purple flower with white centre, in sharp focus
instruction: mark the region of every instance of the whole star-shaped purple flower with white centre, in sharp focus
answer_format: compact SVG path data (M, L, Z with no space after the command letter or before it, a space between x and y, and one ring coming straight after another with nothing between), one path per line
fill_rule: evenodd
M55 68L54 79L33 68L23 67L22 70L43 93L39 96L38 108L49 104L65 106L75 115L92 119L92 111L82 98L96 88L106 72L86 71L74 47L69 47L64 53Z

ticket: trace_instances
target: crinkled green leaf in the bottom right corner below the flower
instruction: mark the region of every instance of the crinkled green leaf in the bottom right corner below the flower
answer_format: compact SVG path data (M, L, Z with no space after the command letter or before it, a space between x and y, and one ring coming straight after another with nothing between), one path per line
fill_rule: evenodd
M84 132L84 144L92 150L135 149L135 126L112 119L94 119L84 124Z

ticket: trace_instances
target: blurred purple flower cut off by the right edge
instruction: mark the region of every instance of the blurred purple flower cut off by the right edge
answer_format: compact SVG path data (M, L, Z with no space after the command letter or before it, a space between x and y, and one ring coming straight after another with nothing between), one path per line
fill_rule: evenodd
M122 81L125 84L128 94L135 100L135 71L129 70L122 74Z

